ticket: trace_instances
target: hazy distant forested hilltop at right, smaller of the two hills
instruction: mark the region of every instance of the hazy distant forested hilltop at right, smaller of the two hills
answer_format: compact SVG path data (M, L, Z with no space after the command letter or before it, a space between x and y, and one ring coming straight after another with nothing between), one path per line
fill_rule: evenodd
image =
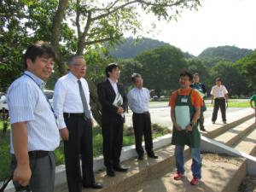
M198 57L218 57L224 60L237 61L252 52L252 49L240 49L235 46L218 46L216 48L204 49Z

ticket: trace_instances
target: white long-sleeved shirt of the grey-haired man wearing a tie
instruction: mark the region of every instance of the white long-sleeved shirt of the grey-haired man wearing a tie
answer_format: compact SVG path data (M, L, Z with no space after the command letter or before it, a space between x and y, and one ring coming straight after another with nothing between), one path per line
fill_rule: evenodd
M87 81L84 78L78 79L71 72L67 73L67 75L58 79L55 84L54 110L59 129L67 127L63 113L84 113L78 80L81 81L88 109L90 110L90 91ZM91 113L90 116L92 117Z

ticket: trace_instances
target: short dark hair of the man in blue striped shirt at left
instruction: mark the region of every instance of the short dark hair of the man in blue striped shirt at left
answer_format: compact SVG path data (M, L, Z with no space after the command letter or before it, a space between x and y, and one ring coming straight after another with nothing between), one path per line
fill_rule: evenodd
M24 67L27 68L26 59L31 59L31 61L34 62L38 56L53 58L55 60L55 51L49 43L44 41L38 41L35 44L30 45L26 49L26 53L24 55Z

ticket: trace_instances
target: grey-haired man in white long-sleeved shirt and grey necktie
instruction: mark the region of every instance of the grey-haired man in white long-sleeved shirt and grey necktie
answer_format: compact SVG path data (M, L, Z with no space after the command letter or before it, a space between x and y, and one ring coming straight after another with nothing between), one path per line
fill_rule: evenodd
M89 87L84 79L86 64L83 55L71 56L68 68L70 73L56 82L54 95L55 114L64 140L68 190L81 192L82 186L101 189L102 184L95 182L93 173L93 121Z

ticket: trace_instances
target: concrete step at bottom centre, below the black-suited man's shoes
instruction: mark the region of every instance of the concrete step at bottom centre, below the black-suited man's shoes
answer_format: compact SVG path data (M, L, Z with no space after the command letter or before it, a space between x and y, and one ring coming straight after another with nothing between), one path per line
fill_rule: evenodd
M96 182L103 183L103 189L84 189L86 192L125 192L156 174L165 172L174 165L174 146L167 146L156 151L159 159L126 160L122 165L128 166L128 172L115 172L115 177L106 176L105 171L95 173ZM185 148L185 159L189 157L189 148ZM55 188L55 192L67 192L67 184Z

